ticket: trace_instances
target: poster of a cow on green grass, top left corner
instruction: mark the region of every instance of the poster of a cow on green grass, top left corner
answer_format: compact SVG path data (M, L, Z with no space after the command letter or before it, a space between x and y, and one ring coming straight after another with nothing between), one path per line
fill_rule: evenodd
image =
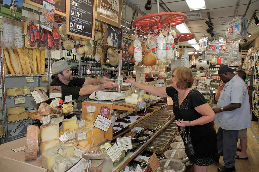
M0 15L9 19L21 21L22 0L0 0Z

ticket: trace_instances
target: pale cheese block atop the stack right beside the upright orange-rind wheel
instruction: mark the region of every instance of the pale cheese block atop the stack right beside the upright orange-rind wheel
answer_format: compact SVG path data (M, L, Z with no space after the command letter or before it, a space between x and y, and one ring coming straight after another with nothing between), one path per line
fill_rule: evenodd
M40 126L40 140L47 142L56 140L59 137L59 124L48 123Z

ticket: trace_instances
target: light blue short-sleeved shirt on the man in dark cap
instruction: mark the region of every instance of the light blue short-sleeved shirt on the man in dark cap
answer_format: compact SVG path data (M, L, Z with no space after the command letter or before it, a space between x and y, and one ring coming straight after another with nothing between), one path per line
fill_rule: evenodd
M246 83L238 75L235 75L223 87L217 107L224 107L230 103L241 103L242 105L232 111L217 113L215 124L225 130L250 128L252 125L248 90Z

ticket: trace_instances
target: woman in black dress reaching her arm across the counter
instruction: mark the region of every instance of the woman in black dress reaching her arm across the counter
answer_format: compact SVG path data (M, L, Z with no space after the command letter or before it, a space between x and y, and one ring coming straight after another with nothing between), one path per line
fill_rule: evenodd
M189 158L194 163L194 171L207 172L208 166L218 161L217 133L211 123L215 119L215 113L203 94L192 88L194 79L189 68L175 68L171 80L171 87L155 87L130 79L125 82L159 97L172 98L178 130L181 131L180 127L185 127L187 136L189 128L191 130L194 155ZM185 141L183 135L182 138Z

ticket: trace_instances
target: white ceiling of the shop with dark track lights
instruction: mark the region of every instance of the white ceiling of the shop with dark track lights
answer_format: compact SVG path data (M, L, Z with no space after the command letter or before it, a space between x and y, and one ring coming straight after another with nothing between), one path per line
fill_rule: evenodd
M124 0L123 2L127 2L126 6L126 21L131 23L134 6L128 6L129 4L134 4L138 6L138 8L143 12L138 14L138 18L142 17L141 14L153 14L157 13L157 6L156 0L152 0L152 9L145 10L145 3L147 0ZM250 3L249 3L250 2ZM213 23L213 31L216 36L223 36L225 35L225 29L227 23L232 21L233 16L236 16L236 9L238 7L238 15L239 17L244 16L248 18L248 23L252 18L254 11L259 7L259 0L205 0L206 9L204 10L196 10L190 11L187 3L185 0L159 0L160 12L167 12L167 11L176 11L182 12L187 15L193 13L200 13L200 18L195 19L188 19L185 23L188 26L189 30L192 34L196 35L196 42L199 42L199 39L203 37L203 35L207 34L206 29L208 29L207 24L205 21L208 20L208 12L210 13L211 22ZM238 5L237 5L238 4ZM258 10L259 11L259 10ZM123 9L123 19L125 20L125 9ZM256 13L256 17L259 18L259 12ZM220 21L226 21L226 24L219 24ZM125 23L122 22L122 25ZM246 43L241 43L242 47L250 44L256 37L259 36L259 25L255 25L255 20L252 18L249 26L248 32L252 34L251 37L246 38L248 41ZM207 34L210 37L209 34ZM218 38L217 38L218 39ZM188 43L180 43L180 45L188 45Z

